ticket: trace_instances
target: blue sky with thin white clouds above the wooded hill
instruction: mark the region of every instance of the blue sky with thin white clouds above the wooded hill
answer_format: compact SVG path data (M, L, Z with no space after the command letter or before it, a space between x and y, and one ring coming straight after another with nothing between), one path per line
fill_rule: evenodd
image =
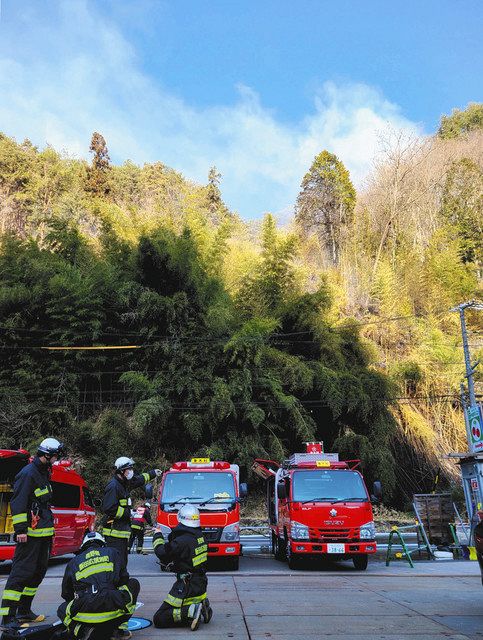
M3 0L0 130L161 160L283 218L324 148L362 186L387 130L482 100L480 0Z

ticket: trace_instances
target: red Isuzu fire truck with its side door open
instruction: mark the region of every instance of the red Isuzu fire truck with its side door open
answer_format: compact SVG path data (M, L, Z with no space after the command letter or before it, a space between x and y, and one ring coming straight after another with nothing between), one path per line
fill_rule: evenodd
M253 470L267 482L267 506L272 550L291 569L303 556L328 554L351 558L367 568L376 552L371 502L378 502L380 483L369 496L358 460L339 461L323 453L322 443L307 443L307 453L295 453L281 465L255 460Z

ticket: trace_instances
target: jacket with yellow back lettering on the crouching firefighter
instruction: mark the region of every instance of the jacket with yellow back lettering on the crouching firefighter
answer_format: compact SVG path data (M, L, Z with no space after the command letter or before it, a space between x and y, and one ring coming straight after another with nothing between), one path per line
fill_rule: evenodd
M62 580L59 617L66 627L74 620L99 624L131 614L135 608L129 574L117 549L90 545L67 565Z

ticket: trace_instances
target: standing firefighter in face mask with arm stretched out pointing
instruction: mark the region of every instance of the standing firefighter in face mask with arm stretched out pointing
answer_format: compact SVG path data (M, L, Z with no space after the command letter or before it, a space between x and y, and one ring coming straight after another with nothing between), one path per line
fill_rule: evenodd
M134 460L126 456L116 460L114 470L114 477L108 483L102 501L103 535L107 546L119 551L126 568L131 537L132 503L129 492L142 487L162 472L160 469L152 469L148 473L134 473Z

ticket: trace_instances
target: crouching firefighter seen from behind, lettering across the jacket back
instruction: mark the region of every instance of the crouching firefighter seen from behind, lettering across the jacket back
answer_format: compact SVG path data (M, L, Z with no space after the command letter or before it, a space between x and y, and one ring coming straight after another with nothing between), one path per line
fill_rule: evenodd
M69 562L62 580L63 602L57 615L75 640L130 638L119 629L136 608L139 582L130 578L117 549L90 531L79 553Z

